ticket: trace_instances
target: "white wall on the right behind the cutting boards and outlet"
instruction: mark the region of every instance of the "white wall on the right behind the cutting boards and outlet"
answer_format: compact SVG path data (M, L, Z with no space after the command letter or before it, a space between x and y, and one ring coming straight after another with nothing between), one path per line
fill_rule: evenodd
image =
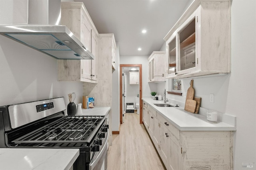
M232 0L231 10L231 73L226 76L193 78L195 96L202 97L201 107L215 109L237 117L234 132L234 170L256 169L256 1ZM165 46L165 44L163 45ZM191 79L182 80L183 96L168 98L185 102ZM159 84L158 91L167 88ZM210 93L214 103L210 103Z

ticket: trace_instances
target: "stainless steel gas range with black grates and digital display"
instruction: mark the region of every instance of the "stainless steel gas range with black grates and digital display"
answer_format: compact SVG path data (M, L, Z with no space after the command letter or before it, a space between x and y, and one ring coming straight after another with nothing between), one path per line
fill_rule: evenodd
M63 97L0 107L0 148L77 148L74 170L106 170L107 118L65 109Z

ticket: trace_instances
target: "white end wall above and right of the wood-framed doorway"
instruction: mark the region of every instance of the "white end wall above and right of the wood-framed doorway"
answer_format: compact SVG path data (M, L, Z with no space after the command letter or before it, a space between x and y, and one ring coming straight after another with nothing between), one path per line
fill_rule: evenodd
M142 98L150 97L150 92L156 92L157 84L148 83L149 56L120 56L120 64L142 64Z

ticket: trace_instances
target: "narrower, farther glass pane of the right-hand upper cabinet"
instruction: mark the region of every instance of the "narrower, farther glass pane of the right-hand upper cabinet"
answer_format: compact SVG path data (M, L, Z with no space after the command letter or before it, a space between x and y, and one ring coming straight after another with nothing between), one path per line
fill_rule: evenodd
M176 72L176 37L168 44L169 46L169 64L168 74Z

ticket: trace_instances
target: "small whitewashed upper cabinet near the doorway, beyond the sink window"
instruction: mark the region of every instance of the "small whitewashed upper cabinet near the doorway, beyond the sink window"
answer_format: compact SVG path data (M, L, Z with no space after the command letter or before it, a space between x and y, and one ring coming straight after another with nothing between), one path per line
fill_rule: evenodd
M148 82L163 82L165 81L164 73L166 70L166 52L153 51L148 57Z

